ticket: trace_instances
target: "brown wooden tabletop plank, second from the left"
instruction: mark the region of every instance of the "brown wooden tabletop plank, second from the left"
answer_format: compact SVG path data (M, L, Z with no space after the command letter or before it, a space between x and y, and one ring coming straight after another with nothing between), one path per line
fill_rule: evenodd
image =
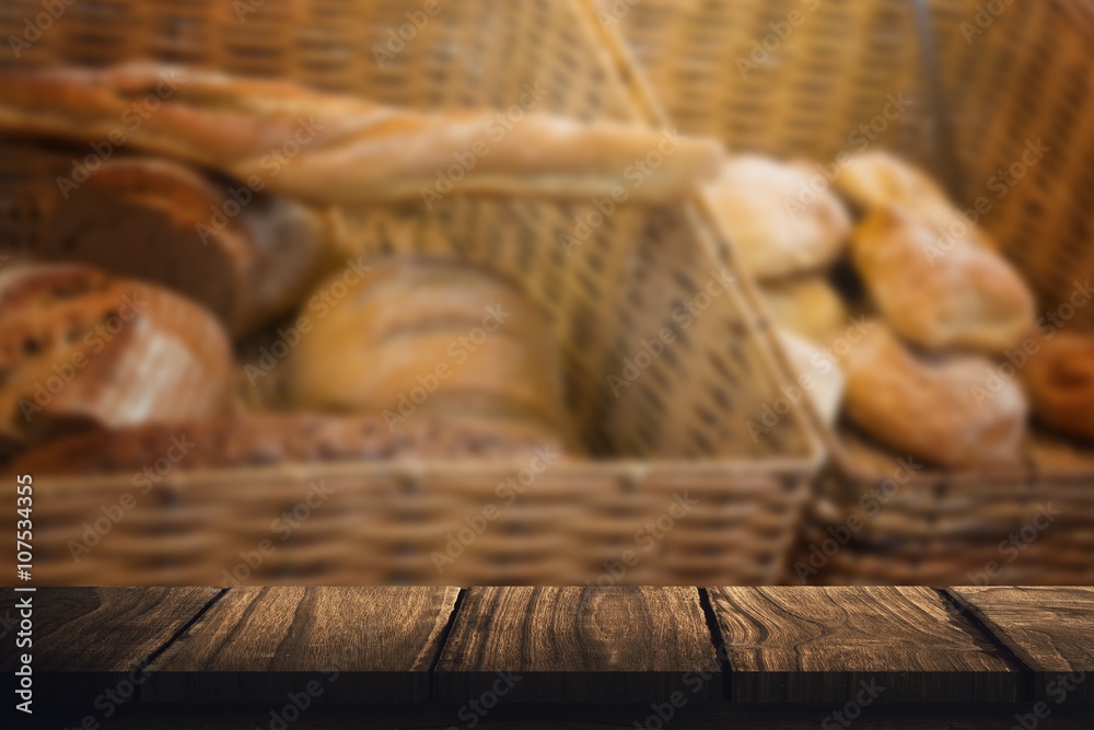
M146 702L427 702L456 588L230 590L150 668ZM302 699L303 702L303 699Z

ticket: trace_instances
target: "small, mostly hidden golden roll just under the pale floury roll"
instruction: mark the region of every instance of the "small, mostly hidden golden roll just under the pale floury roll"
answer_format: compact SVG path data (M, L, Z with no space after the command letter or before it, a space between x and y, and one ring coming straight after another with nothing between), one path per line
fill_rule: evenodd
M769 282L760 294L777 324L815 345L830 345L849 326L847 305L822 276Z

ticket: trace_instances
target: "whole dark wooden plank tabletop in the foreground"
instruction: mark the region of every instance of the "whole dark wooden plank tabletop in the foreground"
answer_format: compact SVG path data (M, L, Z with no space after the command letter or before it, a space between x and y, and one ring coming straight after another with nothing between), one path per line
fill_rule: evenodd
M512 727L539 727L516 722L514 712L524 711L526 723L528 712L549 717L566 707L602 717L604 727L619 719L606 714L621 708L641 715L622 718L626 727L631 719L656 727L645 719L657 719L657 708L677 721L715 718L662 719L664 727L725 727L726 712L760 712L748 721L754 727L770 712L787 727L795 715L816 727L829 710L892 717L893 727L909 712L920 714L920 725L907 727L934 727L929 714L942 712L939 727L966 727L954 718L997 708L999 727L1009 728L1002 714L1039 703L1052 722L1091 719L1085 727L1094 728L1092 588L40 588L9 595L33 596L39 707L100 711L109 690L125 691L124 704L143 712L277 708L306 695L309 711L327 712L313 720L352 706L417 708L420 721L403 717L398 727L432 727L424 715L473 712L473 705L496 709L494 721L507 717ZM4 671L14 671L15 656L5 653ZM441 727L468 727L468 718ZM1052 727L1047 717L1038 722L1045 727Z

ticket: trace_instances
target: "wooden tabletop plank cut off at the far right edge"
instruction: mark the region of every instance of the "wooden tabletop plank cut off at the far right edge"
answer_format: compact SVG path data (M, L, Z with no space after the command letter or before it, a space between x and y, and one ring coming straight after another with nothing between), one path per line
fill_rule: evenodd
M1094 703L1094 588L986 586L948 593L1033 672L1034 698L1050 706Z

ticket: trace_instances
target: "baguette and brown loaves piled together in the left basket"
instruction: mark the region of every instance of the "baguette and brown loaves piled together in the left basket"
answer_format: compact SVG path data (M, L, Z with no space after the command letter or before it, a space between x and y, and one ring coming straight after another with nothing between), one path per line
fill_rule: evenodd
M364 260L340 206L421 204L470 152L458 195L609 196L659 132L535 113L499 138L489 111L151 65L5 70L0 86L9 137L124 147L60 181L31 260L0 269L0 462L139 472L181 442L179 470L577 450L548 315L463 260ZM155 113L123 127L149 94ZM679 198L723 154L683 140L631 197ZM283 413L241 407L241 373L278 383Z

